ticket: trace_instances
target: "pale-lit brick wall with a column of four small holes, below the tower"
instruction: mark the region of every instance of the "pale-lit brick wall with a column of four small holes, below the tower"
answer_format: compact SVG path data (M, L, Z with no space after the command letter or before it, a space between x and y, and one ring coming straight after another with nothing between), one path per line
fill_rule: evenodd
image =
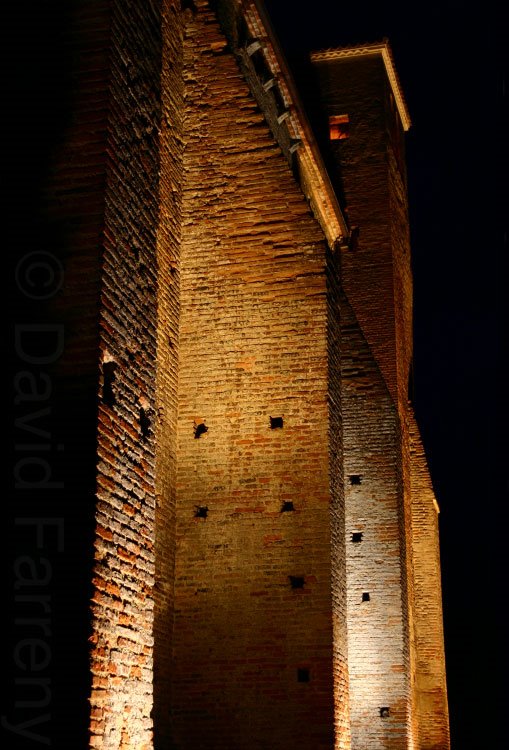
M398 418L346 299L341 322L352 747L407 748L410 688Z

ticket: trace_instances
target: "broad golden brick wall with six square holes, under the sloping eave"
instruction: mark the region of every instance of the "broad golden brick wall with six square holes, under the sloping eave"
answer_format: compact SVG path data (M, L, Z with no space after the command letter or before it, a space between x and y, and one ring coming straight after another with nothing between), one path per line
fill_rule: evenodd
M325 242L199 6L184 67L174 744L330 748L345 620L343 583L333 626Z

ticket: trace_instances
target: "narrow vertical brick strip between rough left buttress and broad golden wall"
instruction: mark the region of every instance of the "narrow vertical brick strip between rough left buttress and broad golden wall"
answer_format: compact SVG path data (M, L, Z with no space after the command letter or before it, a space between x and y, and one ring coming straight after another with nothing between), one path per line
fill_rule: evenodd
M168 748L171 713L173 582L183 179L183 14L162 5L161 139L157 236L156 514L154 588L154 747Z

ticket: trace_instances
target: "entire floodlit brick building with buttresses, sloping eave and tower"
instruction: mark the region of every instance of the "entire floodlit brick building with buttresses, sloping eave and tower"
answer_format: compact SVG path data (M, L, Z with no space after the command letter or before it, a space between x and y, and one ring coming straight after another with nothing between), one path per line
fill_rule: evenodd
M76 7L49 205L57 375L99 397L90 746L447 750L389 48L314 56L350 126L321 151L258 3Z

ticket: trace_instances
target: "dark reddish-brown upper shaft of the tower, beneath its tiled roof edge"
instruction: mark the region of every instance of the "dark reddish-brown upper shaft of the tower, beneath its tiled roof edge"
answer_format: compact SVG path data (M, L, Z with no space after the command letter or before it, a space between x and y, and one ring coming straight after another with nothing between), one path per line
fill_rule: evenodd
M343 255L343 288L395 403L406 403L412 285L399 115L380 55L314 65L327 114L350 118L349 137L330 143L359 232Z

